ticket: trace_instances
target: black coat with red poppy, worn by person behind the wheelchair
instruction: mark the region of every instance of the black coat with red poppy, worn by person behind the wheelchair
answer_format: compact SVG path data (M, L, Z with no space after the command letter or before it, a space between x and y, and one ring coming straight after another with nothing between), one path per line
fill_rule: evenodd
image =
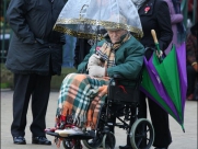
M150 10L145 12L145 9ZM163 0L149 0L138 11L142 24L143 37L140 41L144 47L155 48L151 30L155 30L161 50L165 50L170 45L173 32L168 5ZM147 51L150 57L152 51Z

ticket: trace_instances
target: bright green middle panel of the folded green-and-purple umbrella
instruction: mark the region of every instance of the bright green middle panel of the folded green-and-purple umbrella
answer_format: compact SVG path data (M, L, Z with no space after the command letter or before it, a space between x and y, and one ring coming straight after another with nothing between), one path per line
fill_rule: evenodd
M163 85L170 95L174 106L179 116L179 124L183 126L184 115L182 108L182 96L180 96L180 83L179 83L179 73L177 68L177 57L176 50L173 46L170 54L163 59L162 62L159 61L156 55L154 55L153 66L155 67L160 79L163 82Z

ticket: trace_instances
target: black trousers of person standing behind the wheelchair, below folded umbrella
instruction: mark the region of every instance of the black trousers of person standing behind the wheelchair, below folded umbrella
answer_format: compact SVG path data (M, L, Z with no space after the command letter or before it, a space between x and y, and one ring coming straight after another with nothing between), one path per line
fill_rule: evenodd
M148 99L151 122L154 128L154 147L168 147L172 142L168 114L151 99ZM140 93L139 118L147 118L145 94Z

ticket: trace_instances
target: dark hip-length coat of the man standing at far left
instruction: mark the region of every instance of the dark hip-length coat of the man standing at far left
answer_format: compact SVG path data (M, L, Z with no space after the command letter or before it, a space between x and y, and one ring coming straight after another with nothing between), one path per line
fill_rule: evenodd
M49 74L53 70L53 74L60 74L65 36L53 27L63 5L63 0L11 0L7 11L13 30L8 69L14 73Z

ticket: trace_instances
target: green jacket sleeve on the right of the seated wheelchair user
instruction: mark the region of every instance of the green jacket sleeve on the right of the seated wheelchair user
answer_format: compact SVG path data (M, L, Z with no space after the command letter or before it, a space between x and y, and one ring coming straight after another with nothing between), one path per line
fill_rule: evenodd
M126 55L124 62L108 68L107 73L109 77L120 74L126 79L136 80L142 68L144 47L140 43L133 43L131 46L125 48L124 53Z

